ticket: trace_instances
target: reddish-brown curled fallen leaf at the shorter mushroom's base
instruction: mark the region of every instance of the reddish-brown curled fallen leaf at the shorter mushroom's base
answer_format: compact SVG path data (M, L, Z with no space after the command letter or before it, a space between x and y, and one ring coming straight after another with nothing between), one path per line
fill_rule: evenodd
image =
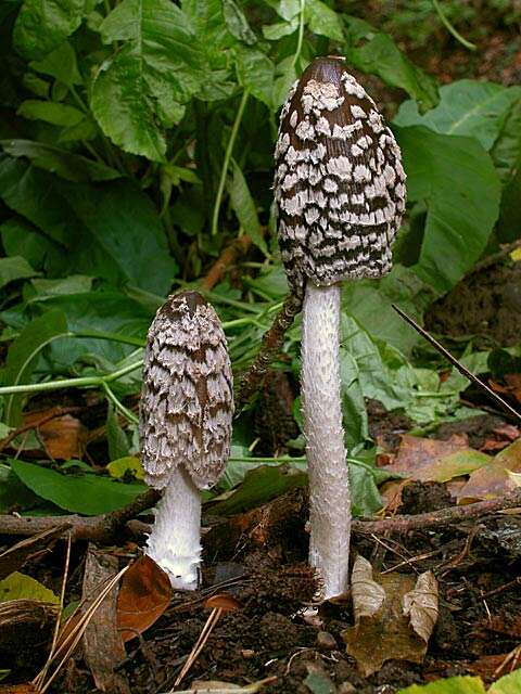
M117 627L124 642L151 627L171 600L167 574L143 554L125 574L117 596Z

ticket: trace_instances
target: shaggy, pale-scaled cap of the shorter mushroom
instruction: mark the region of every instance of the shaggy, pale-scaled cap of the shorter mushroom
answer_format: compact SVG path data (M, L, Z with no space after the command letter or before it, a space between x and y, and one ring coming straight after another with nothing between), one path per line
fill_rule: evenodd
M149 330L140 403L147 484L162 489L183 465L211 487L230 455L233 383L226 337L196 292L169 296Z

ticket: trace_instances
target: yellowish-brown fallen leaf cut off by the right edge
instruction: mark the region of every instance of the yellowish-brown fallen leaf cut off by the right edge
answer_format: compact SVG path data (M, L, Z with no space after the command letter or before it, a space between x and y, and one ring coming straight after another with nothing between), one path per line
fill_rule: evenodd
M521 473L521 438L497 453L488 465L474 471L457 493L458 503L496 499L517 489L511 473Z

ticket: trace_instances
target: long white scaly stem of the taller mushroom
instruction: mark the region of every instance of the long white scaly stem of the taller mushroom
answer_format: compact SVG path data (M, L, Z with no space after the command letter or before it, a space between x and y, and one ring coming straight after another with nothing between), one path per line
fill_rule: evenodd
M308 282L302 334L302 397L309 477L309 564L322 597L347 590L351 494L340 397L340 286Z

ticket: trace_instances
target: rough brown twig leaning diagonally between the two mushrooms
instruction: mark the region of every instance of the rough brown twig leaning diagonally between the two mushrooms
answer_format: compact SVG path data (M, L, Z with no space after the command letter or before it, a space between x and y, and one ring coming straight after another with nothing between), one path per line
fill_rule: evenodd
M295 316L302 309L303 298L303 294L290 294L282 304L282 308L277 313L271 327L267 333L265 333L260 344L260 349L258 350L258 354L250 369L242 377L241 385L239 386L236 399L236 407L238 410L243 407L247 400L250 400L252 395L259 387L269 364L282 348L285 331L289 330L295 320Z

